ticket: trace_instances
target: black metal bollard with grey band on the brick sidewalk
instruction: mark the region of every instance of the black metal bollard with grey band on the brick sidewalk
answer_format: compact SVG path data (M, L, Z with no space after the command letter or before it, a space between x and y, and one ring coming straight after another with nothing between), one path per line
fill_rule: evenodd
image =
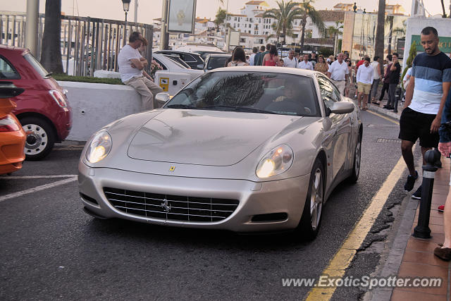
M414 228L412 234L416 238L431 238L431 229L429 228L429 216L431 215L432 190L434 186L435 161L440 159L440 152L429 149L424 155L426 165L423 166L423 183L421 183L421 201L420 212L418 216L418 225Z

